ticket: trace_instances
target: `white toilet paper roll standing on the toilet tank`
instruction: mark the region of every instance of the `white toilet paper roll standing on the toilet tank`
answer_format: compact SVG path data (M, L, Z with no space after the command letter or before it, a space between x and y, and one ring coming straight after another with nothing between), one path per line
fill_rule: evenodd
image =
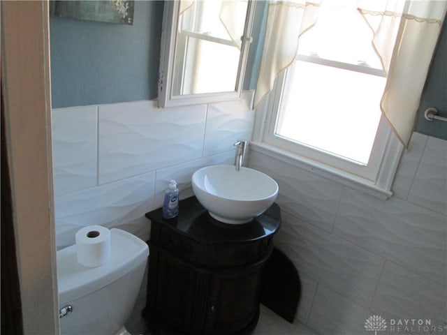
M110 230L101 225L84 227L75 236L78 263L85 267L99 267L110 258Z

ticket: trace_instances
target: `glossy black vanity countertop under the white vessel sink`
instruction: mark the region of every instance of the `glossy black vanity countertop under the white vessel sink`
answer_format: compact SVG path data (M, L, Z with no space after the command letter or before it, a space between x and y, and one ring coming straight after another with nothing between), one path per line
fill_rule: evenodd
M272 204L260 216L240 225L222 223L212 218L196 197L179 202L177 218L165 219L161 213L160 208L149 211L145 216L202 244L256 241L276 233L281 225L281 212L277 204Z

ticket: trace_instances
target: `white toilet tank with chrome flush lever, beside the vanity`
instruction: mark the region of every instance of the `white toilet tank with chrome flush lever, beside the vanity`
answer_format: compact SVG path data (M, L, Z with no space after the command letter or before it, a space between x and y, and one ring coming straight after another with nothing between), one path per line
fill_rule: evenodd
M110 230L110 259L84 267L76 246L57 251L61 334L124 335L138 296L149 248L129 232Z

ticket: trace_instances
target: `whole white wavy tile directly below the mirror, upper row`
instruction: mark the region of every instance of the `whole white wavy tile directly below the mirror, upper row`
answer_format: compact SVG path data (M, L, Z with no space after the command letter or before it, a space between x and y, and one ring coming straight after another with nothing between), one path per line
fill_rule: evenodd
M159 109L155 101L99 106L99 183L200 158L206 110Z

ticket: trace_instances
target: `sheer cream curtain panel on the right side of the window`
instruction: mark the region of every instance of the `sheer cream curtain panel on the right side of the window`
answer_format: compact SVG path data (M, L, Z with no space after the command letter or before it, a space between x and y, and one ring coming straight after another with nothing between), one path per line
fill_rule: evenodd
M378 1L383 2L381 10L372 2L362 1L359 11L374 32L372 43L388 73L381 110L406 146L413 133L447 1Z

